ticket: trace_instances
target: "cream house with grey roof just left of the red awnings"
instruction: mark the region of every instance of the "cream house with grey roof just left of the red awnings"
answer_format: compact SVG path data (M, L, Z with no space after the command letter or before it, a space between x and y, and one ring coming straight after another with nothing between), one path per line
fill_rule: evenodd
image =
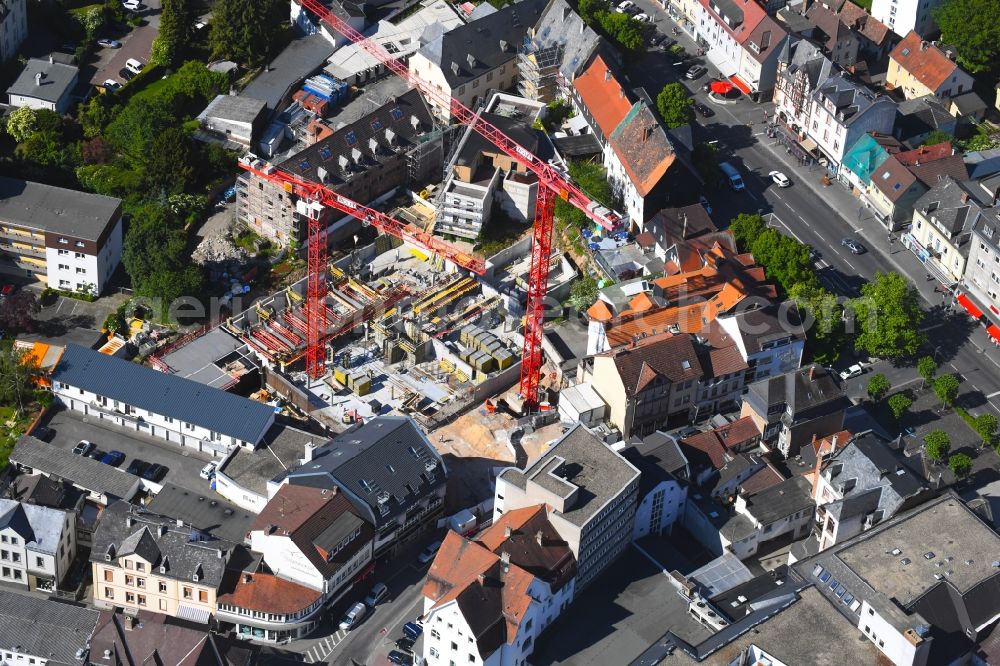
M986 197L978 196L975 189L950 176L943 177L913 207L910 247L918 256L923 254L924 263L937 269L935 272L948 284L963 277L966 283L973 277L983 281L980 274L991 273L997 264L987 263L988 257L982 250L973 251L976 245L973 229L990 218L998 219L996 208L990 204ZM995 280L988 279L983 284L987 294L997 289Z

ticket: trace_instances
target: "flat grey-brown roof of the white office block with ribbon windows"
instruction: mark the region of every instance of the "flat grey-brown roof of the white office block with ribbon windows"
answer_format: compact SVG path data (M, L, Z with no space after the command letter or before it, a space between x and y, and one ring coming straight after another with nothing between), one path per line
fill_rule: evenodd
M580 488L576 502L560 515L582 526L635 481L640 472L589 430L577 425L526 470L512 467L502 475L505 481L522 489L531 480L560 496L566 494L569 484Z

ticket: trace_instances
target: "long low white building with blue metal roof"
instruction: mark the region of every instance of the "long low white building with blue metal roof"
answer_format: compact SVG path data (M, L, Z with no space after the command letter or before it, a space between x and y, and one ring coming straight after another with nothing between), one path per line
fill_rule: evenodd
M215 457L257 447L274 423L269 405L74 344L52 392L67 409Z

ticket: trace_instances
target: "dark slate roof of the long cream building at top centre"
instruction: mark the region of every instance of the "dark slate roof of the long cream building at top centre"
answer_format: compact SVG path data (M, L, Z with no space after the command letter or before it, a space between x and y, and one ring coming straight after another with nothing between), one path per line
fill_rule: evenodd
M545 4L545 0L521 0L507 5L432 39L419 52L441 68L448 85L458 87L513 61ZM501 49L501 42L506 48Z

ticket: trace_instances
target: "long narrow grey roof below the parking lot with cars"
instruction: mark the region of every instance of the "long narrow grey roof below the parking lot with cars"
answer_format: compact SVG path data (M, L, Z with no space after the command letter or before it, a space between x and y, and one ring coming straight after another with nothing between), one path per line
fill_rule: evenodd
M108 497L130 500L139 488L139 477L134 474L103 465L86 456L66 455L62 449L30 435L18 440L10 460Z

